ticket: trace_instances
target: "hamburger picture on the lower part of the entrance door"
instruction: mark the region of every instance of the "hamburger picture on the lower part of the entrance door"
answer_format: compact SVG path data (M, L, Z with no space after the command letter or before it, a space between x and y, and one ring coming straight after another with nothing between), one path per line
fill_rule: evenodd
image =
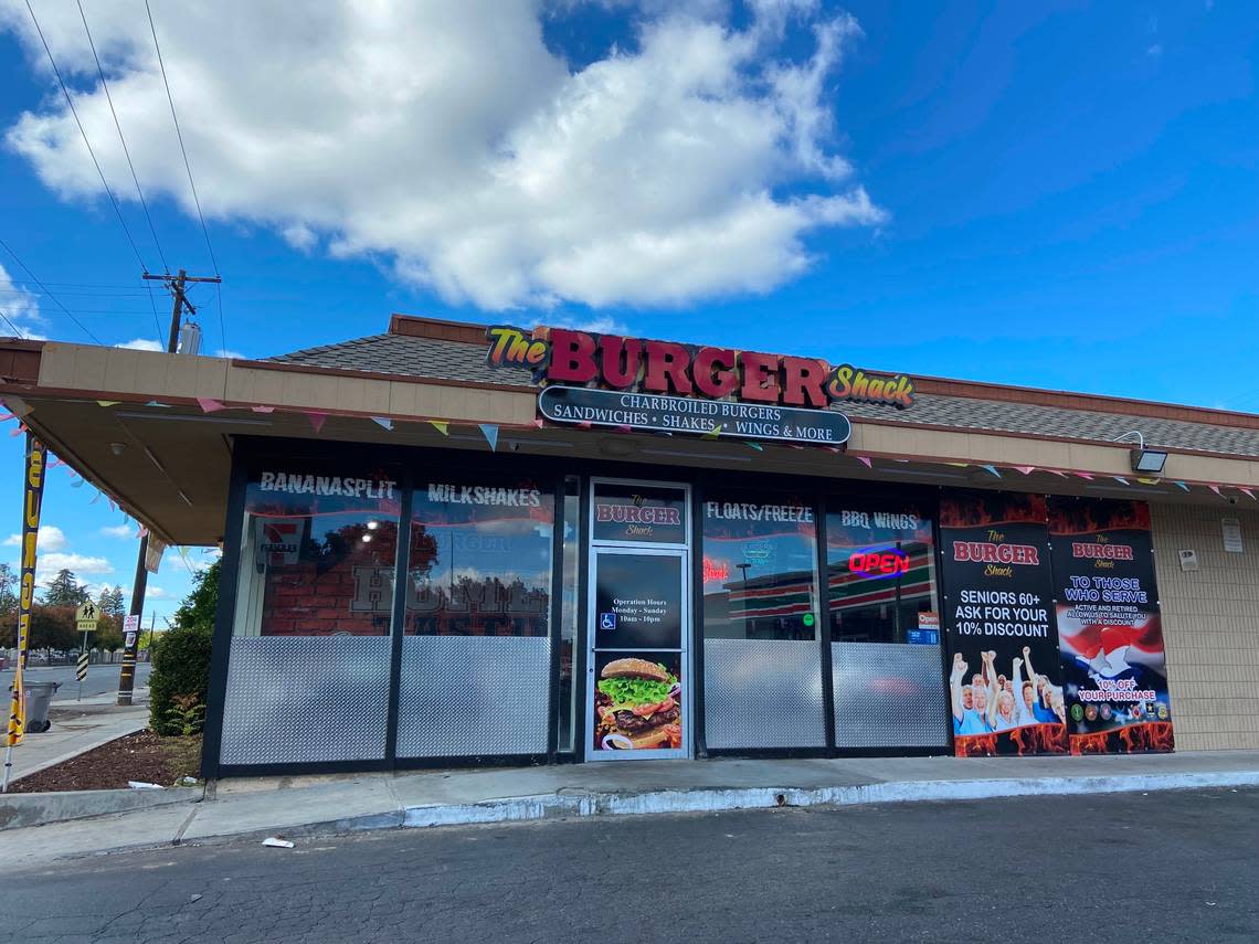
M617 658L603 667L594 695L596 746L604 750L681 748L677 678L658 662Z

